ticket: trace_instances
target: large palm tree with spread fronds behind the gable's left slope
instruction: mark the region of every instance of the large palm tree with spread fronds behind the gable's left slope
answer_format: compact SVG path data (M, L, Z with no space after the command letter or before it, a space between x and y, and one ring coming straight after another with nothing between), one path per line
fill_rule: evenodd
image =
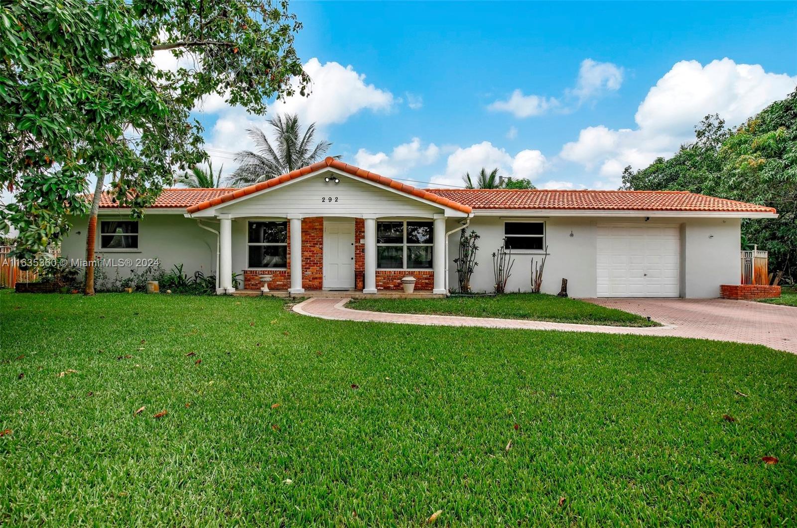
M311 165L318 161L329 147L332 147L332 143L323 140L314 144L316 123L310 123L302 133L299 117L296 114L277 115L269 119L269 125L273 128L274 144L269 141L262 129L249 129L249 137L253 139L257 152L238 152L235 161L241 165L233 173L234 186L265 182L281 174L288 174L292 170ZM340 158L340 156L334 157Z

